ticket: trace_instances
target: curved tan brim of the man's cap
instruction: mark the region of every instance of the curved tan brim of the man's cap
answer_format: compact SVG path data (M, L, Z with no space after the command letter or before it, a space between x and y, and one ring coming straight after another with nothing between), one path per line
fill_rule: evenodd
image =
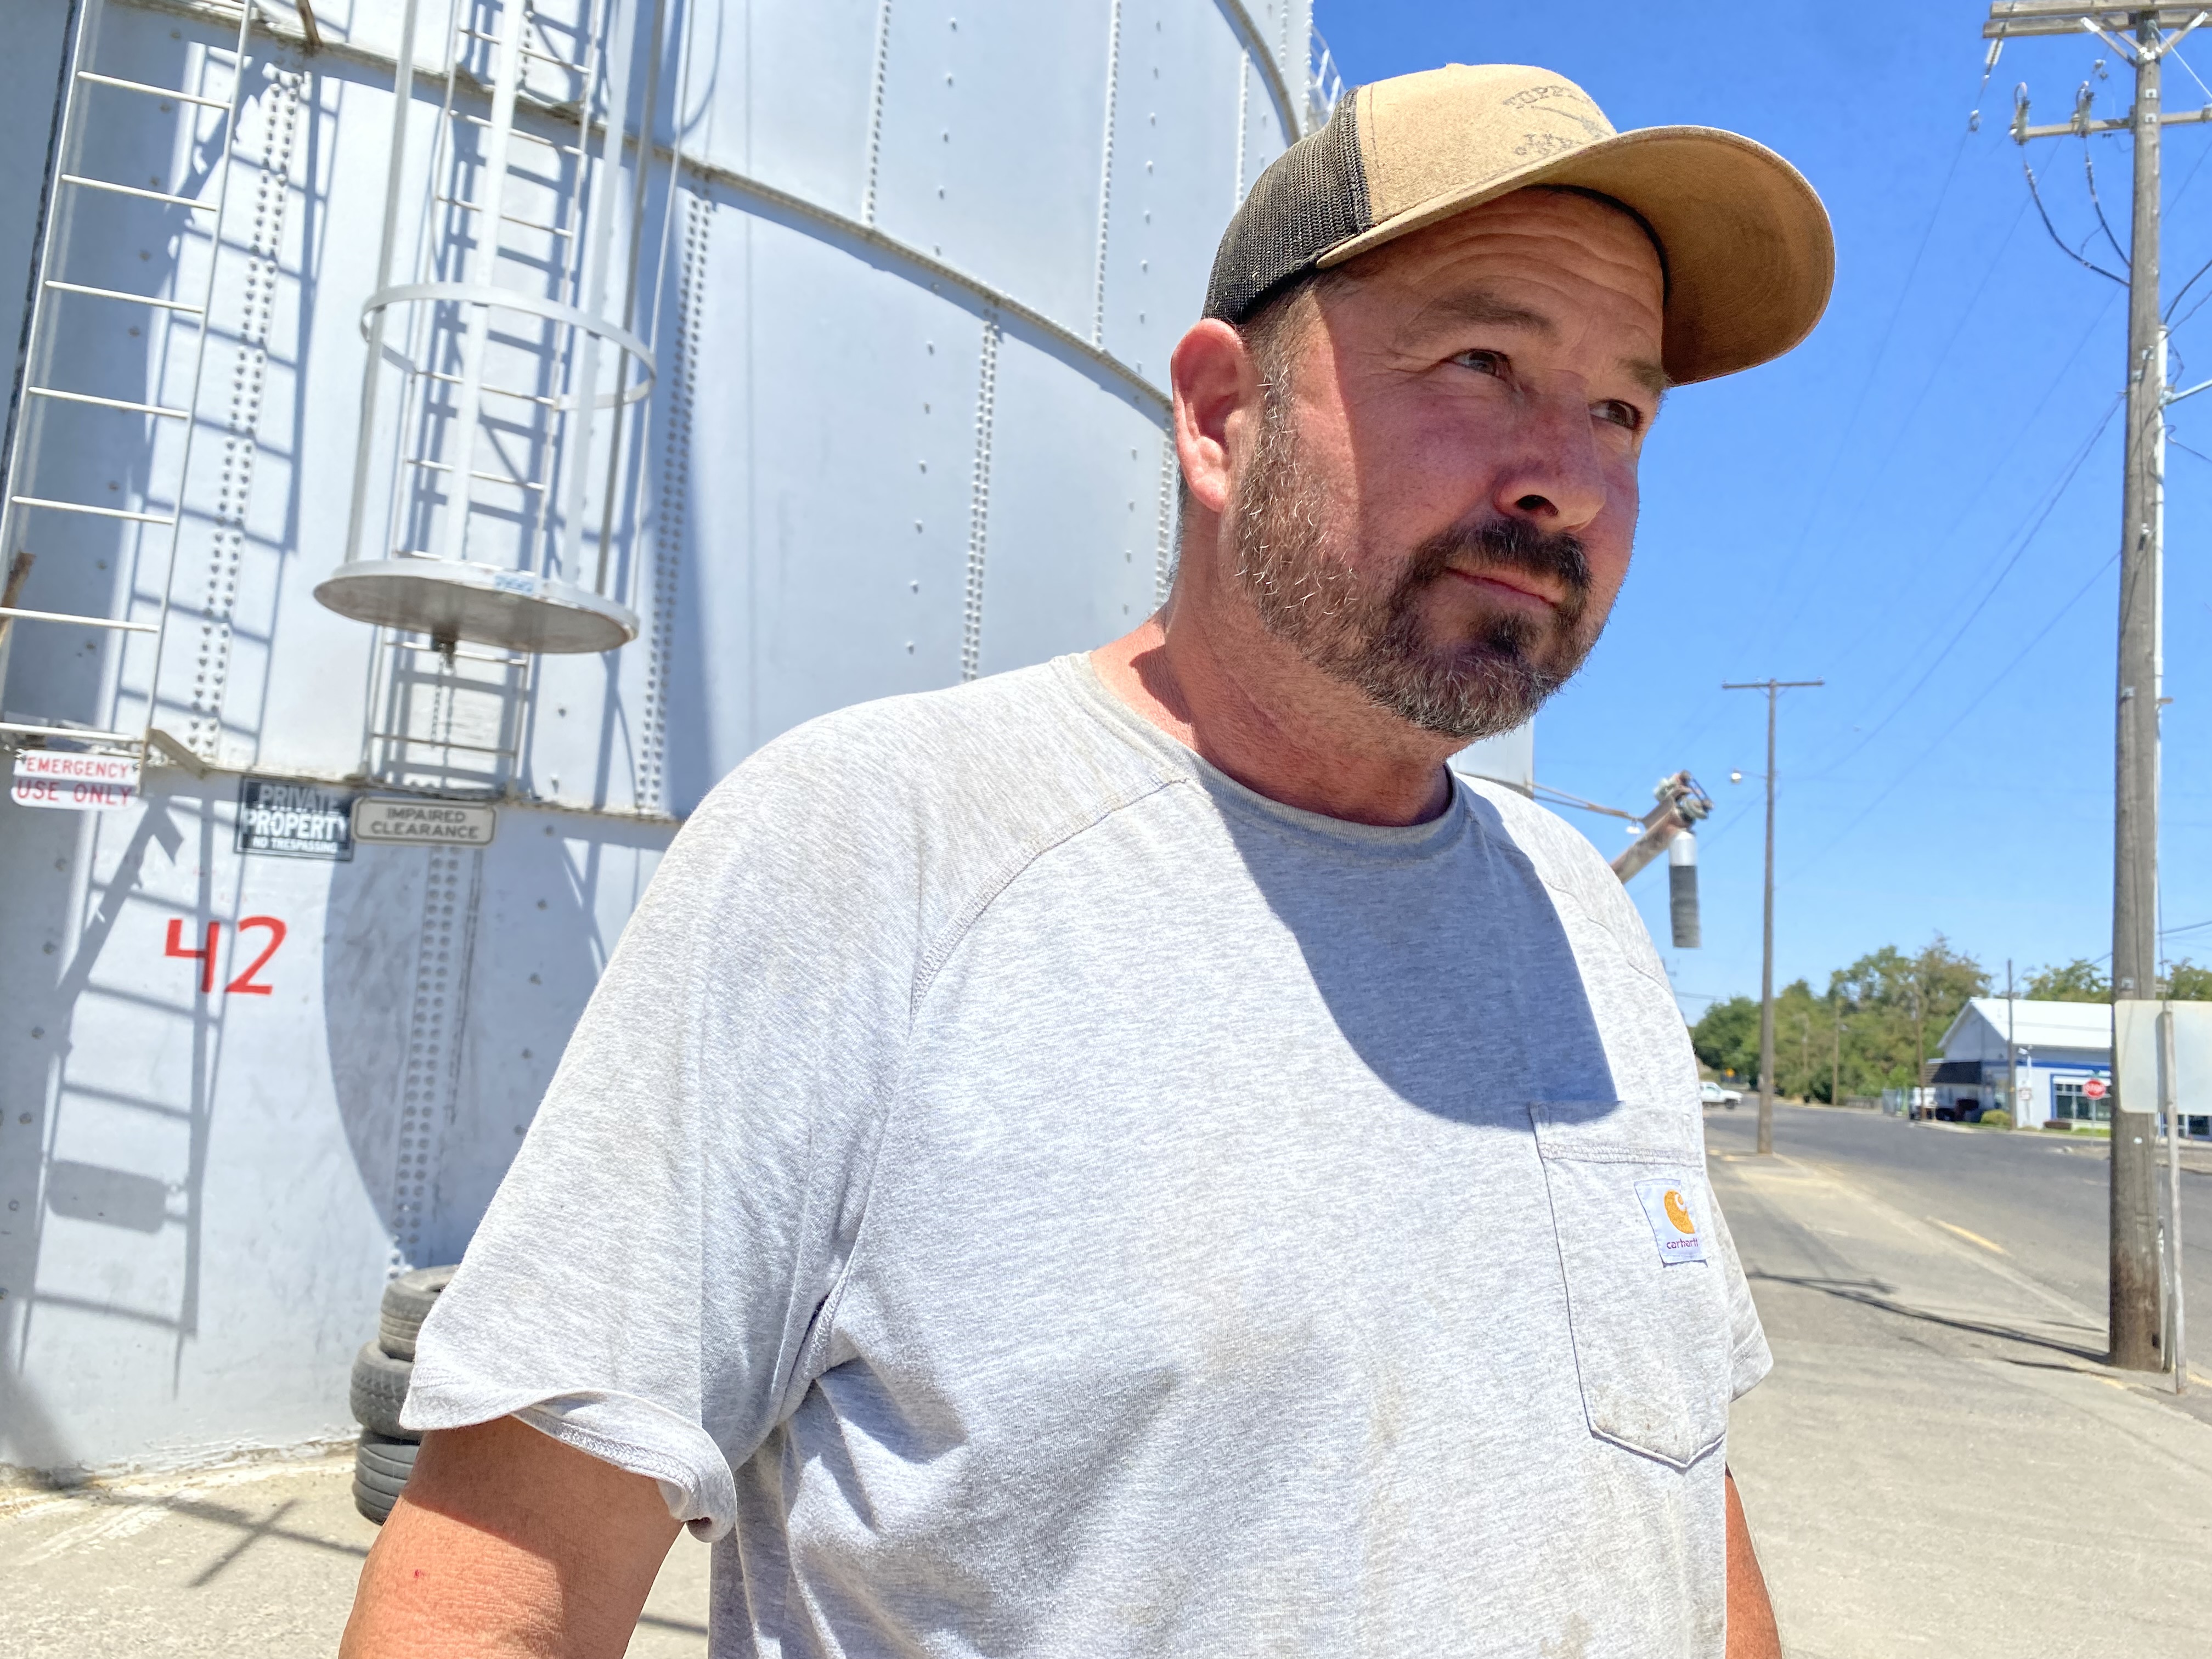
M1340 241L1321 265L1537 184L1597 190L1635 208L1666 248L1661 358L1677 385L1781 356L1812 334L1836 281L1827 208L1774 150L1712 126L1617 133L1502 179L1431 197Z

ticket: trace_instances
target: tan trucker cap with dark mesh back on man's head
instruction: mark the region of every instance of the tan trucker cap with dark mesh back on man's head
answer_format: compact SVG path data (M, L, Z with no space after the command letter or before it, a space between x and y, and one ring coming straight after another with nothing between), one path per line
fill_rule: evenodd
M1827 307L1827 210L1774 150L1712 126L1615 133L1548 69L1447 64L1345 93L1261 173L1214 252L1206 314L1241 323L1294 276L1531 184L1644 217L1668 276L1670 380L1776 358Z

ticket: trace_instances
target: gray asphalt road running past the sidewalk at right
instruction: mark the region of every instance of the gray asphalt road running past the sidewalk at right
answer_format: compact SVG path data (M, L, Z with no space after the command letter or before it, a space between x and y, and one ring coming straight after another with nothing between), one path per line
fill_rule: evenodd
M1714 1152L1756 1152L1759 1102L1705 1110ZM1869 1110L1776 1106L1774 1150L1871 1188L2084 1307L2106 1307L2110 1157L2101 1139L1909 1124ZM2166 1164L2159 1164L2166 1190ZM2192 1369L2212 1371L2212 1175L2181 1172L2181 1279Z

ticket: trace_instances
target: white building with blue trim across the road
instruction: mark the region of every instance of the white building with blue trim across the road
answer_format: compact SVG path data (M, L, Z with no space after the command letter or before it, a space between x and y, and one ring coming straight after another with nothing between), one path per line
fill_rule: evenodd
M2002 1106L2006 1046L2022 1124L2101 1124L2112 1115L2112 1006L2024 998L1973 998L1958 1011L1929 1079L1936 1106L1960 1115Z

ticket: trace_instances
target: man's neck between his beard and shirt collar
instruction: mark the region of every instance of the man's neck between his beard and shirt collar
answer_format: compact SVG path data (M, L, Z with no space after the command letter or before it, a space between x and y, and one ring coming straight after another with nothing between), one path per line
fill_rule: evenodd
M1159 615L1093 650L1091 666L1144 719L1270 801L1376 825L1422 823L1451 803L1444 759L1458 743L1323 675L1241 595L1179 580Z

